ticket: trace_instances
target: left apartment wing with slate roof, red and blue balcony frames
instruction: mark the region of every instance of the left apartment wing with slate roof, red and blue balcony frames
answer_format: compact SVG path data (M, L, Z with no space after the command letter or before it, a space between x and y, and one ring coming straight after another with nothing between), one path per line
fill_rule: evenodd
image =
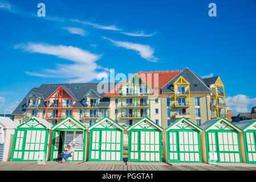
M32 88L13 111L14 122L21 124L35 116L55 125L71 115L90 126L109 116L109 98L104 97L107 92L101 88L110 88L111 84L114 87L116 83L42 84Z

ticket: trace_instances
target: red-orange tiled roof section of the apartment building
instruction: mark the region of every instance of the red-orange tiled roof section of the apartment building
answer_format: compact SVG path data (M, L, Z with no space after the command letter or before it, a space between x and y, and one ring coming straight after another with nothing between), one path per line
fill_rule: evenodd
M172 80L173 77L178 75L181 70L176 71L149 71L149 72L137 72L137 74L141 80L145 81L148 86L151 87L151 93L152 94L160 94L160 90L162 86L164 86L168 81ZM157 84L155 82L154 76L155 74L158 75L158 81ZM129 79L128 79L129 80ZM121 92L118 92L117 88L121 88L128 80L124 81L123 83L116 86L116 88L112 89L110 92L106 93L104 96L121 96ZM155 92L154 90L157 89Z

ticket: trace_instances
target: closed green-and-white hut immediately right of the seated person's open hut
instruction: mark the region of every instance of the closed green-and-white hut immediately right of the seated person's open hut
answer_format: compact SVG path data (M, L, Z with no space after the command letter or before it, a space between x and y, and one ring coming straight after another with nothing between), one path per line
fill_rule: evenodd
M109 117L88 127L90 161L123 161L124 127Z

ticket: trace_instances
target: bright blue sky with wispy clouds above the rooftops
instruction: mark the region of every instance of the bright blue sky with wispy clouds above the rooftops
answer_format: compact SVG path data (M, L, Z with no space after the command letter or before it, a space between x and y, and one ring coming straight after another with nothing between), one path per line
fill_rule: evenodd
M0 113L33 87L96 81L109 69L189 67L221 77L234 113L256 105L256 1L0 0L0 17Z

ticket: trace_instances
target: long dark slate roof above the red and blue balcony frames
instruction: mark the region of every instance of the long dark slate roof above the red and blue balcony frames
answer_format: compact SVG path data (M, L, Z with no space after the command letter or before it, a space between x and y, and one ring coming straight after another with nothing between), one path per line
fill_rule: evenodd
M115 85L118 82L115 82ZM52 93L56 89L59 88L59 86L63 86L63 88L69 93L72 94L72 97L76 99L76 102L74 104L74 107L84 107L84 95L88 93L91 89L97 90L97 85L99 82L90 82L90 83L71 83L71 84L42 84L38 88L32 88L29 92L36 92L42 94L44 98L48 98L51 96ZM105 98L104 94L109 92L110 89L110 84L111 82L108 82L108 89L103 90L103 93L97 93L99 96L101 96L100 102L99 102L99 107L108 107L110 104L110 99ZM75 86L79 86L79 89L75 89ZM105 91L105 92L104 92ZM27 94L26 97L29 95ZM13 111L13 114L24 114L26 109L26 104L27 104L27 98L24 98L21 103L16 107L16 109ZM38 108L46 108L46 101L41 100L40 104L38 105Z

